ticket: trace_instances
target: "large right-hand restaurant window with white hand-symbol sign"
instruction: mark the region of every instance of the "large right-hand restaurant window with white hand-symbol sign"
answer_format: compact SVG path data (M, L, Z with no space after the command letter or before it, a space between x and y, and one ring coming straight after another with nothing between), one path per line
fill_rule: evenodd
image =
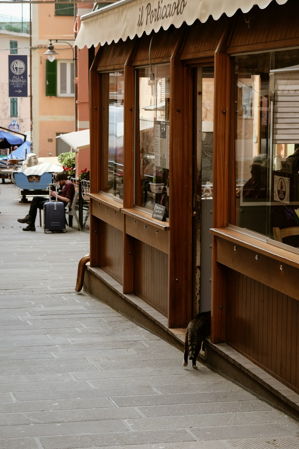
M230 224L298 247L299 50L234 58L236 197ZM299 232L298 232L299 233ZM297 234L298 234L297 233Z

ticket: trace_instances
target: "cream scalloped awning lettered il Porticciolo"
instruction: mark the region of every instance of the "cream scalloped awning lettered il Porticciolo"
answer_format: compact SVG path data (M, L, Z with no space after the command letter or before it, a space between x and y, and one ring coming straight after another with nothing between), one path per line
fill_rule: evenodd
M266 8L271 1L285 4L287 0L120 0L98 11L81 17L81 26L74 45L90 48L106 42L111 44L145 31L149 35L162 26L179 28L183 22L192 25L196 19L204 23L212 16L218 20L223 13L228 17L237 9L247 13L254 5Z

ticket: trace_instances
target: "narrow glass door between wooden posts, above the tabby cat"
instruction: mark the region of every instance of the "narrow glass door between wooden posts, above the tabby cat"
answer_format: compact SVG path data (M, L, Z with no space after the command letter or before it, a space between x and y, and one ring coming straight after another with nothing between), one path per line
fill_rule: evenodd
M193 79L193 315L211 310L214 67Z

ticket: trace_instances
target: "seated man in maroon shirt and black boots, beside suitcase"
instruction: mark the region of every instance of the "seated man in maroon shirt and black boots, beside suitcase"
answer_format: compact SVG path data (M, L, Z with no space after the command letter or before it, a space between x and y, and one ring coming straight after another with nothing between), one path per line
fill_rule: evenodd
M56 198L56 192L50 191L51 196L56 198L58 201L62 201L66 205L69 203L69 201L72 201L75 188L74 184L69 180L68 176L65 172L60 172L56 175L55 178L56 182L59 182L59 184L62 187L62 190L59 194L57 194ZM37 214L38 209L43 209L43 205L45 202L49 201L49 198L35 196L33 197L29 209L28 215L24 218L18 218L19 223L27 223L28 226L26 228L23 228L23 231L35 231L35 218Z

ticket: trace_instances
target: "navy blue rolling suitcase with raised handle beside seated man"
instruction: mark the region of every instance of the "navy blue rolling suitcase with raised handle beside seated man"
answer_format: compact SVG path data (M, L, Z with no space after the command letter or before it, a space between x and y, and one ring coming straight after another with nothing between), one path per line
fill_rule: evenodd
M60 201L51 201L50 191L51 185L49 186L49 202L43 205L43 232L65 232L65 204Z

